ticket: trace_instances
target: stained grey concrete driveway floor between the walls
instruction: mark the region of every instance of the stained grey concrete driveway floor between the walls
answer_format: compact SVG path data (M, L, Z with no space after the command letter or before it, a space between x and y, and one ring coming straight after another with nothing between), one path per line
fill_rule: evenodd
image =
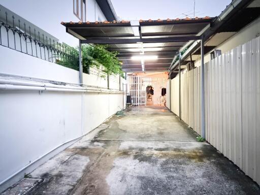
M26 194L260 194L196 136L165 107L131 108L32 172Z

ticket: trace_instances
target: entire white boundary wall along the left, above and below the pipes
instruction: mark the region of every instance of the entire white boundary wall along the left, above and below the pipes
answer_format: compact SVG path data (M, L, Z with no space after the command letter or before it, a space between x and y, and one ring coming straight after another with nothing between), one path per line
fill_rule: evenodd
M0 79L15 75L32 83L79 83L78 71L58 64L3 46L0 56ZM113 77L115 90L106 92L0 90L0 191L125 107L119 76ZM98 80L102 82L93 86ZM107 87L96 75L84 74L83 82L98 90ZM122 87L125 80L120 82Z

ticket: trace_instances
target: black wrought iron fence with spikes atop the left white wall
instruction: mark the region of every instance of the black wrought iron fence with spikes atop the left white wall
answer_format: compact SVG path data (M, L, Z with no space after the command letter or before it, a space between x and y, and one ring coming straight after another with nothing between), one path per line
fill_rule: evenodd
M0 45L75 70L79 67L79 55L75 48L48 38L40 30L21 23L20 19L16 20L7 12L4 19L0 18Z

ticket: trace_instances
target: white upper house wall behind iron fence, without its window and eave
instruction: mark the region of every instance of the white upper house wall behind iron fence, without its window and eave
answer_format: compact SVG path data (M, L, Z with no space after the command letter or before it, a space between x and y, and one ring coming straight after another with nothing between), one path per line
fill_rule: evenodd
M102 21L106 17L102 13L95 0L86 0L86 19L96 21L100 17ZM78 22L79 19L73 13L73 0L23 0L16 1L2 0L1 5L10 9L33 24L49 32L62 43L70 46L78 46L78 40L66 32L66 28L60 24L64 22Z

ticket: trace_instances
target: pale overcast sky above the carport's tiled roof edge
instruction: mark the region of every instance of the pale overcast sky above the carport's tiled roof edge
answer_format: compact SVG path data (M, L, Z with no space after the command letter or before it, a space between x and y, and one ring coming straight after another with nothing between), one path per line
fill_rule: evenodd
M130 19L174 19L193 17L194 0L111 0L116 14ZM218 16L231 0L196 0L195 16Z

